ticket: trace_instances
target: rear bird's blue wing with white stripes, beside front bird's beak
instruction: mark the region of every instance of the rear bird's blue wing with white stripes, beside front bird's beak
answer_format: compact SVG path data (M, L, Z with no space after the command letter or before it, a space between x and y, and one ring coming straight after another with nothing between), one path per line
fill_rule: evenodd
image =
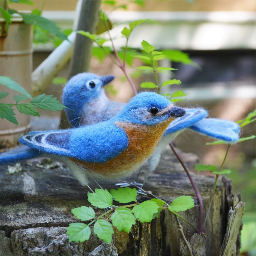
M175 133L179 130L186 129L193 123L196 123L202 118L208 116L207 111L202 108L185 108L185 111L185 115L176 118L169 124L163 135L168 135L170 133Z

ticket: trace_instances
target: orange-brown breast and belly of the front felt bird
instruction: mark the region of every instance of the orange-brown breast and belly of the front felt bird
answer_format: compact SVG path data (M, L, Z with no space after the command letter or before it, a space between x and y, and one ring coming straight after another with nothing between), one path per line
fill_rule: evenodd
M166 127L173 119L153 126L115 122L125 131L129 139L127 148L121 154L104 163L71 160L77 162L89 173L96 174L98 178L99 176L108 179L126 176L137 170L150 157Z

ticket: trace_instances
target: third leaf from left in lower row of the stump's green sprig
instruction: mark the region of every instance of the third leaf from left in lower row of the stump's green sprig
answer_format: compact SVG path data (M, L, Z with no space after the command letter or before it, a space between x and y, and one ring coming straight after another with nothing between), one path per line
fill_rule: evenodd
M135 224L136 218L133 212L124 207L116 208L116 211L111 215L112 224L119 232L124 231L129 233L132 226Z

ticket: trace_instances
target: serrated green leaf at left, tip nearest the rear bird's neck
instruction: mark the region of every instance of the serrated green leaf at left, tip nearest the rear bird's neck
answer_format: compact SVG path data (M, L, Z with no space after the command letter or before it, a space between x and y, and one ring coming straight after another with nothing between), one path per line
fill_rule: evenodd
M35 96L30 103L33 103L36 107L43 110L57 111L65 108L65 106L61 104L56 97L53 97L53 95L41 94Z

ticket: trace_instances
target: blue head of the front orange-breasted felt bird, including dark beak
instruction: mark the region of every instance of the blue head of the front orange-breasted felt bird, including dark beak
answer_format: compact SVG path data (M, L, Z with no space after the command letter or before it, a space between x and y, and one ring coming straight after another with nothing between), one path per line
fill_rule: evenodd
M143 125L162 123L170 117L181 117L183 108L175 107L162 95L143 92L134 96L116 119Z

